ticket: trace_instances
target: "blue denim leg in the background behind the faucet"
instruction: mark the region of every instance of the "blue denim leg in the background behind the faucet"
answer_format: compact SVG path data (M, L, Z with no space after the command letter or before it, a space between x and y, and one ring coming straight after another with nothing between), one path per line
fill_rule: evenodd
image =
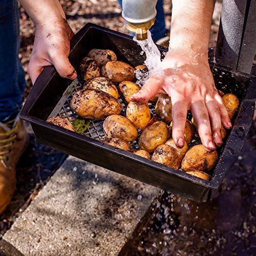
M118 2L122 7L122 0L118 0ZM155 24L150 29L152 38L155 42L166 35L163 0L157 1L156 9L157 9L157 16L155 18Z

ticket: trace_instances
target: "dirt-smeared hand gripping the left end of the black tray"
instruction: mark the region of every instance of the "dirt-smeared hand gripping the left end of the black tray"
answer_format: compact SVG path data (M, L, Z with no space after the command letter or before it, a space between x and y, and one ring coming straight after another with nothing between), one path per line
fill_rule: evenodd
M35 41L28 73L34 84L44 67L53 65L61 77L75 79L77 73L69 62L70 39L74 33L65 18L35 24Z

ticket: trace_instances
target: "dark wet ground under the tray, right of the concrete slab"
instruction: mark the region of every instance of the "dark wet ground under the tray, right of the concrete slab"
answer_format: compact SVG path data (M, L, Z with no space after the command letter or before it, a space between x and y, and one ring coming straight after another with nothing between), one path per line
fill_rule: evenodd
M120 255L255 255L255 129L209 202L161 191Z

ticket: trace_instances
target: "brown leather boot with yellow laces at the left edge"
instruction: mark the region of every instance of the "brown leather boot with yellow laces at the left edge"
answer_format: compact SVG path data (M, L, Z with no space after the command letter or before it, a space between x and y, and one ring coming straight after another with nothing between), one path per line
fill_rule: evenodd
M0 214L11 201L16 188L16 164L28 142L24 121L0 122Z

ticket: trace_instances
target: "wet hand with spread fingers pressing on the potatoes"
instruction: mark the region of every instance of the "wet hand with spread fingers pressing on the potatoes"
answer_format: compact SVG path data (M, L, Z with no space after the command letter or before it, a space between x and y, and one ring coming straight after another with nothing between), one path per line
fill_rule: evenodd
M157 93L172 99L173 139L177 146L184 145L187 111L191 110L206 151L222 144L221 124L230 129L231 122L212 77L207 54L190 55L184 51L169 51L162 61L164 76L152 74L131 100L144 103Z

